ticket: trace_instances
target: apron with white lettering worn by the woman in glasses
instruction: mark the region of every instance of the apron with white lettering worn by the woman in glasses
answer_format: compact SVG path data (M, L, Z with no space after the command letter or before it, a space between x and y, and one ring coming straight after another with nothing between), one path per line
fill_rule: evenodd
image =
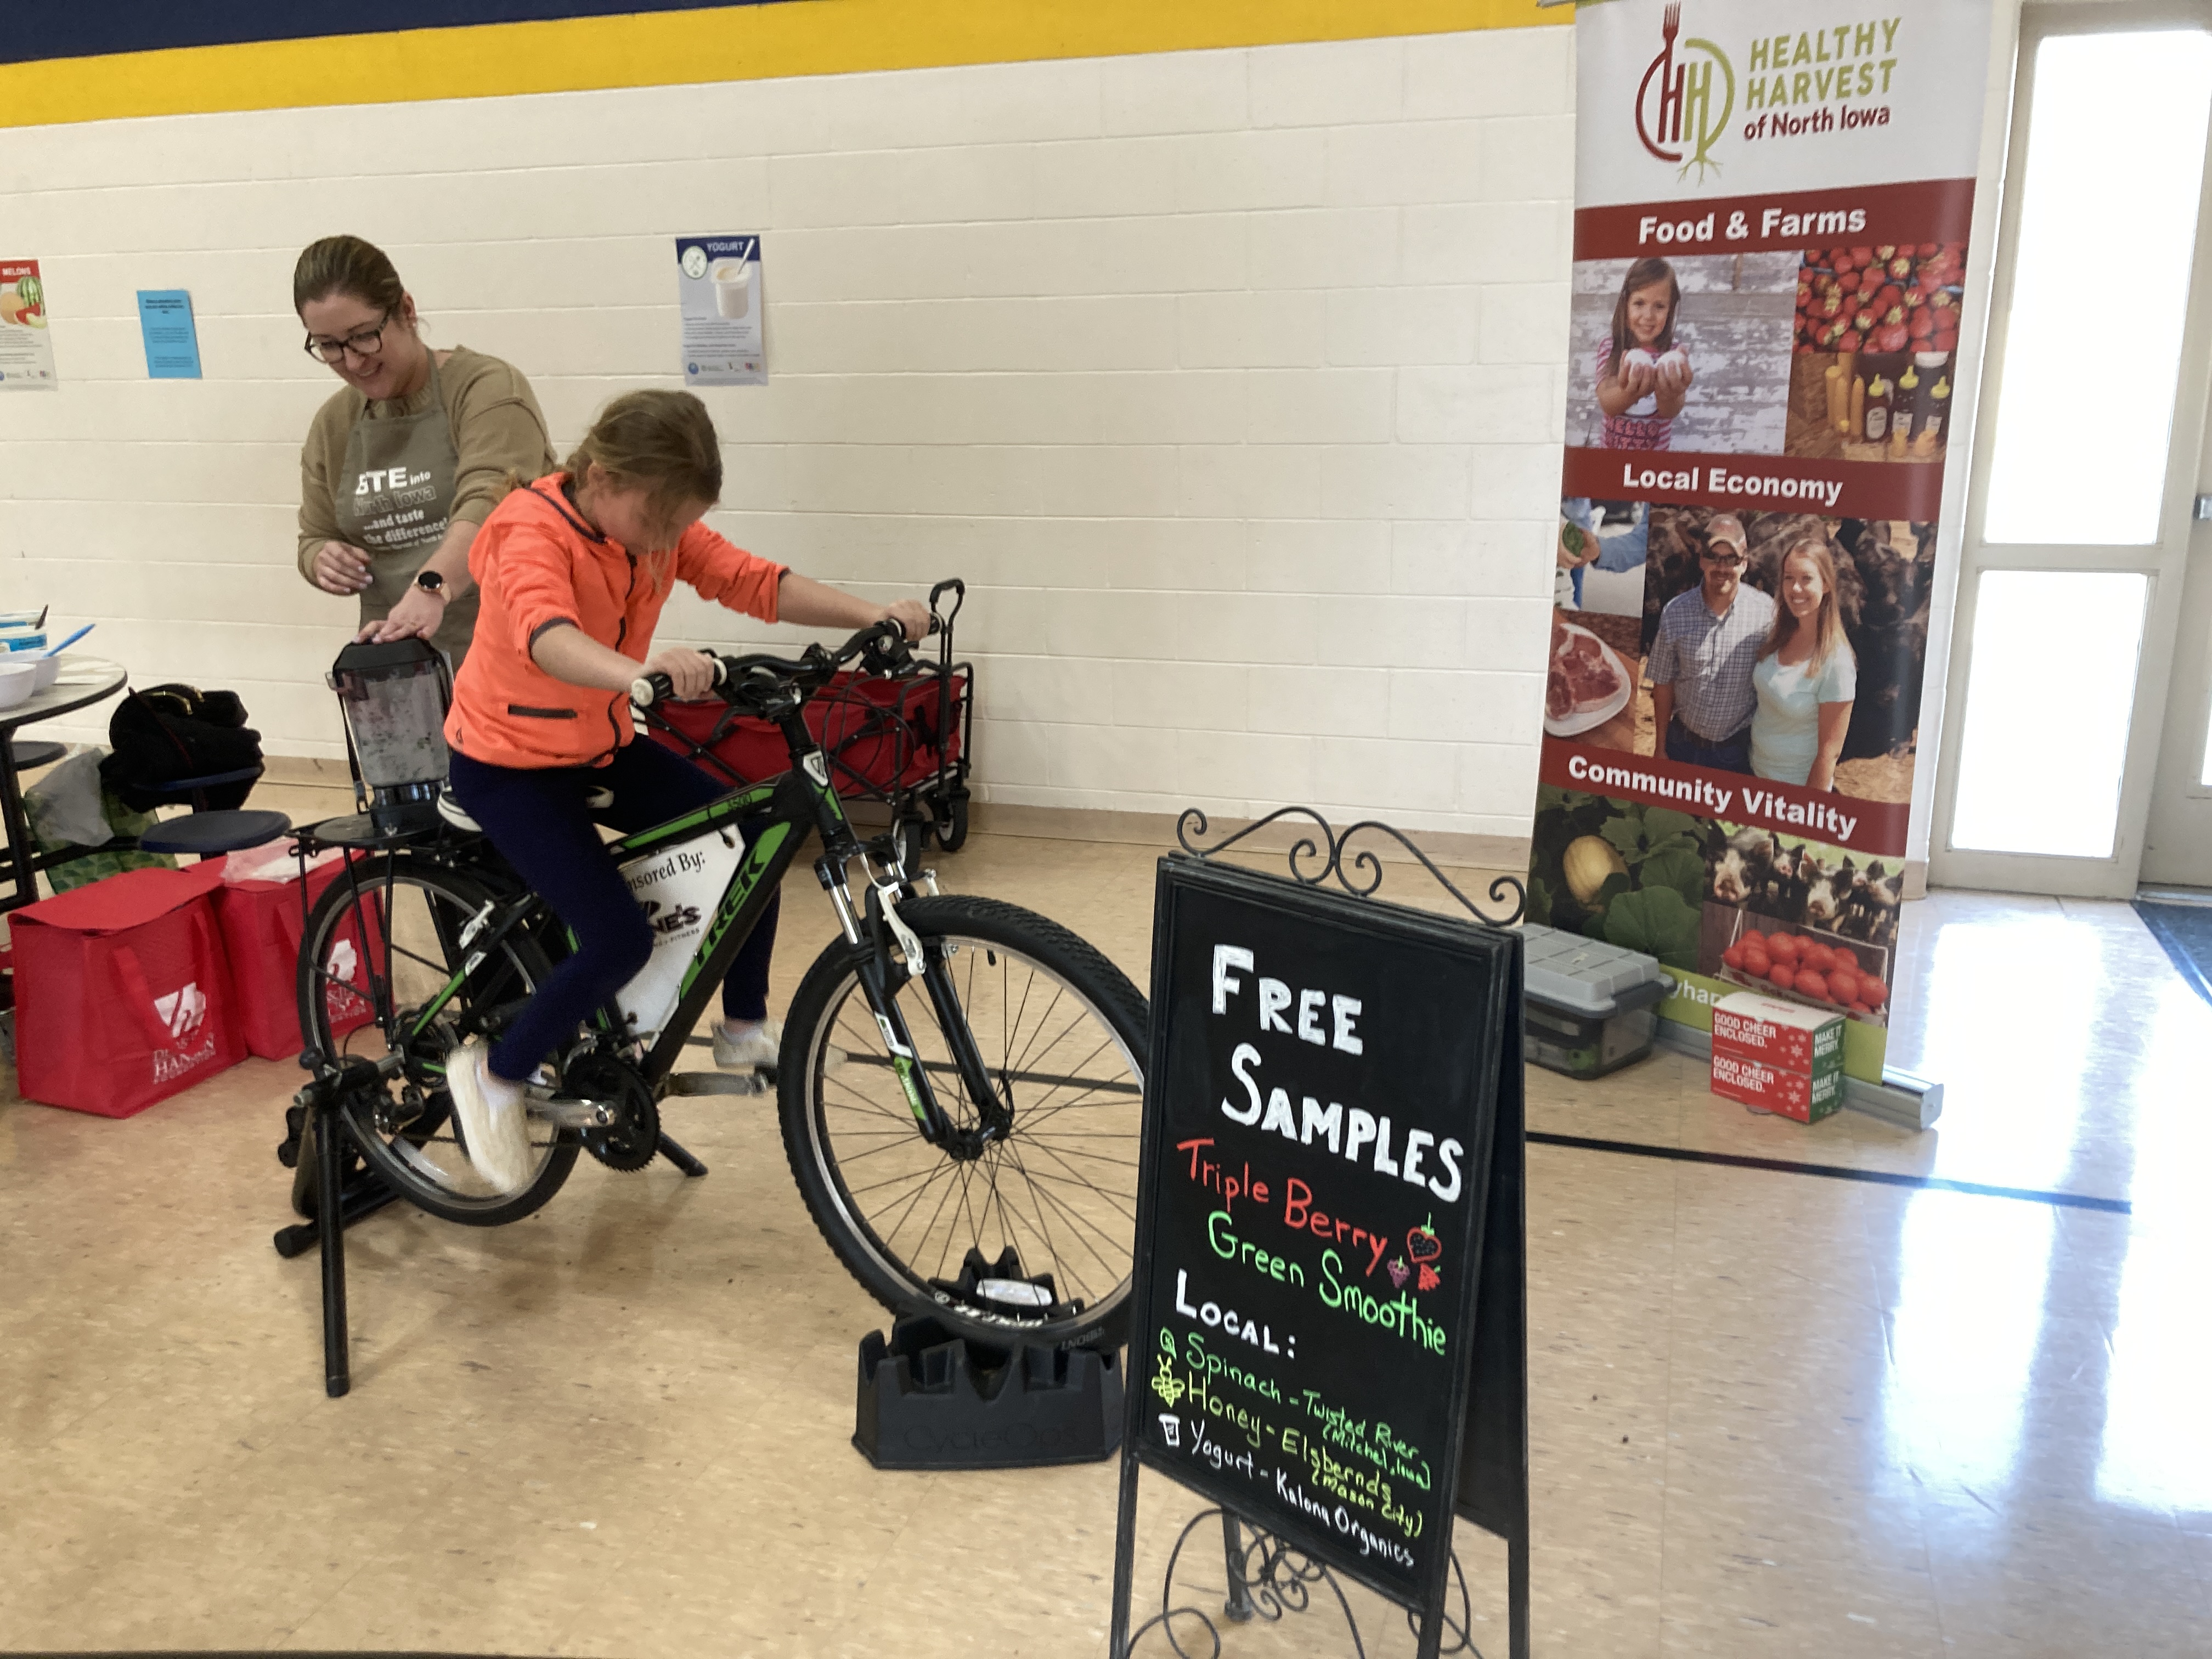
M429 361L429 398L420 414L369 418L363 409L345 436L338 469L338 533L369 555L369 586L361 593L361 622L383 622L414 586L429 555L451 529L460 447L438 387L438 358ZM476 591L445 602L445 622L431 644L453 668L476 633Z

